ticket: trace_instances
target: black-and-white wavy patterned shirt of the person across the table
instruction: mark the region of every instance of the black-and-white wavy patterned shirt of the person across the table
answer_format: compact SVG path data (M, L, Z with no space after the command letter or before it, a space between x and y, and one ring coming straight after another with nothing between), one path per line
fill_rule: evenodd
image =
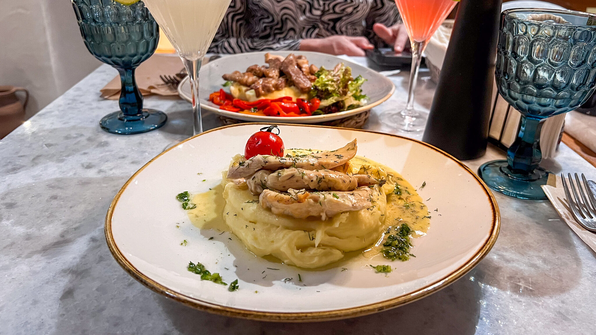
M301 39L332 35L365 36L381 45L373 24L398 20L392 0L232 0L209 52L297 50Z

